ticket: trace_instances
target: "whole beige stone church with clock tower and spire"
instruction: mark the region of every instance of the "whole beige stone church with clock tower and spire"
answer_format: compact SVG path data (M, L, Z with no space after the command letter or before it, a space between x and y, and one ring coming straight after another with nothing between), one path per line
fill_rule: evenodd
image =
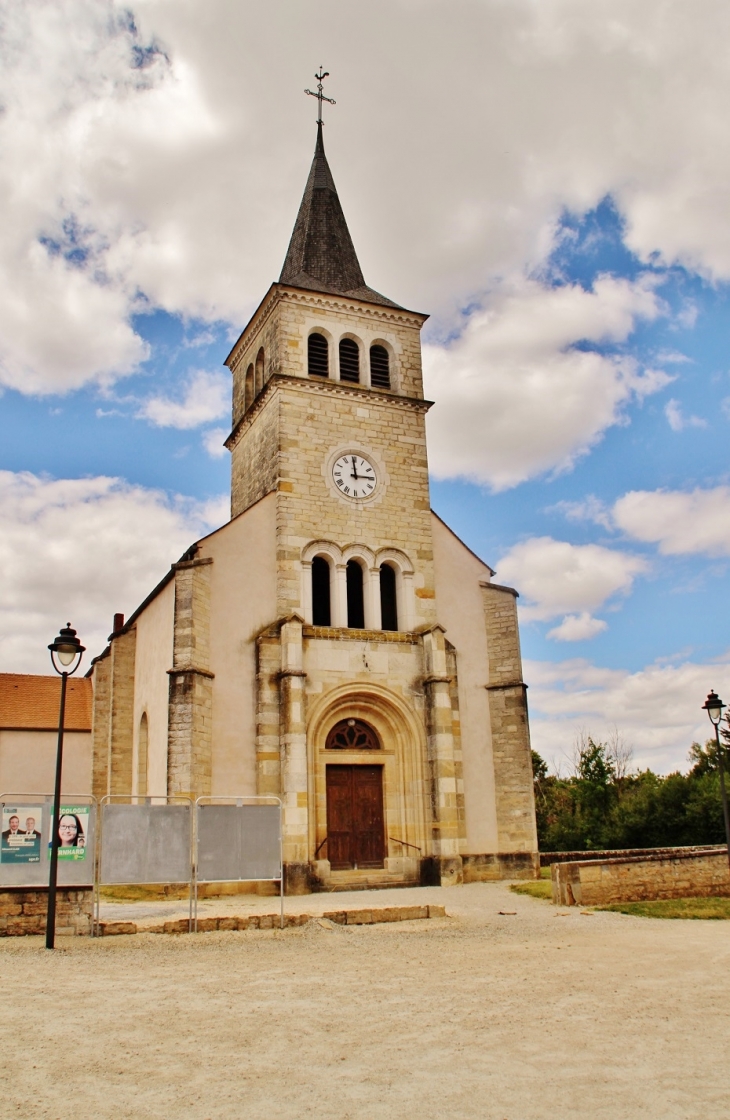
M226 360L231 521L93 664L93 792L280 796L290 893L535 874L516 592L430 508L425 318L365 284L318 125Z

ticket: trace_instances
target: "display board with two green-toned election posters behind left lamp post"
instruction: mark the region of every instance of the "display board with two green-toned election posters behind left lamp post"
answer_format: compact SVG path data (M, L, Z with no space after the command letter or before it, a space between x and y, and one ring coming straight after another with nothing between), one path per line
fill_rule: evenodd
M0 886L47 887L50 870L50 834L53 825L53 794L0 794ZM91 887L94 884L94 855L96 849L96 804L88 795L64 796L62 815L74 814L79 824L76 843L58 851L58 886ZM30 843L12 843L10 818L18 816L20 833L28 836L29 818L40 833ZM19 837L22 841L22 834Z

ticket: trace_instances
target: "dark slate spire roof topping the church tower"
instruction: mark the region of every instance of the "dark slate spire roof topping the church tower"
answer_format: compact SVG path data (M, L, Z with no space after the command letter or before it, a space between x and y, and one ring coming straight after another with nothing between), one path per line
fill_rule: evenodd
M321 122L317 123L315 158L279 283L399 306L365 283L325 156Z

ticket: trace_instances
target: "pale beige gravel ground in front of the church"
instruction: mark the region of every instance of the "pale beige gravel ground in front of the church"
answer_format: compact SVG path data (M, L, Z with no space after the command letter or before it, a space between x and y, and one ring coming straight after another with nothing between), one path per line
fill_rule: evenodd
M3 1114L726 1120L727 923L567 912L503 884L287 908L413 900L451 916L59 939L55 953L4 940Z

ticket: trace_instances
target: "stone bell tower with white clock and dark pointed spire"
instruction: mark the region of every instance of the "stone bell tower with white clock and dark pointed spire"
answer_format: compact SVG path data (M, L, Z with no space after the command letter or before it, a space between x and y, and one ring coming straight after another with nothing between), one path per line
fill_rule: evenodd
M367 287L318 122L315 157L279 281L226 364L233 373L232 516L279 504L279 610L311 622L302 549L318 539L390 547L417 560L403 590L409 628L433 622L420 329ZM303 560L307 564L309 561ZM378 629L380 572L365 573L365 628ZM400 582L403 584L403 572ZM377 577L377 578L375 578ZM330 613L347 626L346 564Z

